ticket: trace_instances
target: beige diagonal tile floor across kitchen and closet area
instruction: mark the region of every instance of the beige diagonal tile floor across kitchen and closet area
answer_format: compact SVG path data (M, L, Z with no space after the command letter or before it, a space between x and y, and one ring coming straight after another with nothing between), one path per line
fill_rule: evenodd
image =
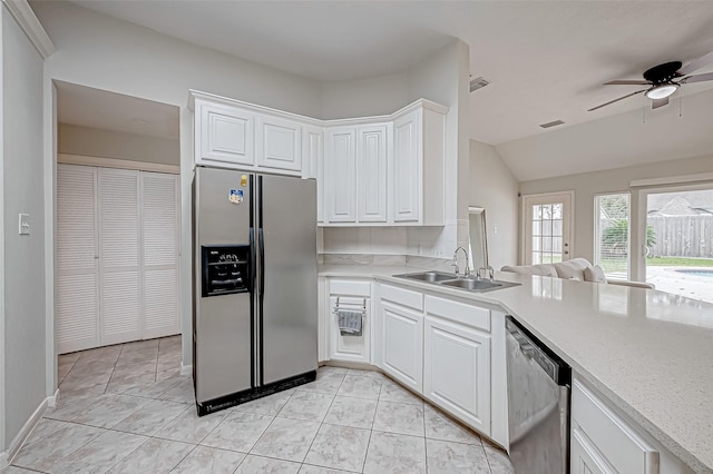
M375 372L204 417L168 337L59 357L60 397L3 474L511 473L508 457Z

